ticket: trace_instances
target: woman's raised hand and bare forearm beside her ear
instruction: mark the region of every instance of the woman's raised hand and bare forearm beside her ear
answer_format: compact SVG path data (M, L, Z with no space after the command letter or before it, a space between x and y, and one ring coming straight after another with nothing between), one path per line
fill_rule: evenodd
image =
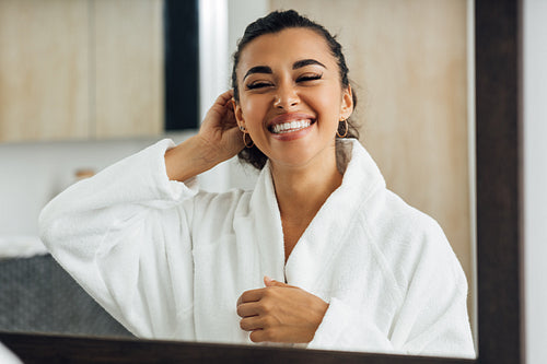
M197 136L165 153L172 180L184 181L236 155L244 146L233 109L233 91L221 94L211 106Z

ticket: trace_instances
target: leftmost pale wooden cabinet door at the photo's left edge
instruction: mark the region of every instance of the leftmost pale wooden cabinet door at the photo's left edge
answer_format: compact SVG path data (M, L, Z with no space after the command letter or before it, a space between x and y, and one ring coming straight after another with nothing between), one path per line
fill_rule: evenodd
M86 1L0 1L0 142L86 137Z

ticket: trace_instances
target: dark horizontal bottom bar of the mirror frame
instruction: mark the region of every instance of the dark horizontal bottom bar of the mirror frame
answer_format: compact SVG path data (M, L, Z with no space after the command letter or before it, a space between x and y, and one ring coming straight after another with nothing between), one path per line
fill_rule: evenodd
M474 360L191 343L142 339L80 338L0 332L0 341L24 363L449 363Z

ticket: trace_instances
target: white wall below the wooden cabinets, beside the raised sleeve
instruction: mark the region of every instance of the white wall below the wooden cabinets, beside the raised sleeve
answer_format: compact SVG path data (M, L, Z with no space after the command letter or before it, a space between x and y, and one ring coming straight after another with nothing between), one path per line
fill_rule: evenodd
M0 143L0 238L36 236L39 211L79 169L98 172L156 139Z

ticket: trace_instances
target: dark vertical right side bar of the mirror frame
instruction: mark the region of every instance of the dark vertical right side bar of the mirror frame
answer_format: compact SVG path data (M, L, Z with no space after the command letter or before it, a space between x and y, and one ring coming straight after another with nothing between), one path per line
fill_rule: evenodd
M525 363L522 0L475 1L479 363Z

